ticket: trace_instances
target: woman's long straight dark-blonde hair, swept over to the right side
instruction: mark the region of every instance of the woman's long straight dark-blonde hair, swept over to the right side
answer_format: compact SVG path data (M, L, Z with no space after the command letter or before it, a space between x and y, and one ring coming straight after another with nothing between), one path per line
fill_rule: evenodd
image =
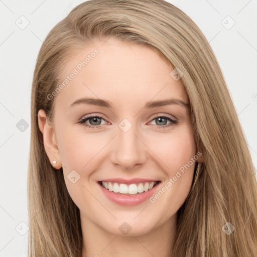
M257 256L254 167L222 72L196 24L163 0L87 1L45 39L31 96L29 256L81 257L79 209L66 189L62 168L54 170L46 155L38 111L53 117L54 99L47 95L58 86L61 67L72 51L111 36L151 47L183 72L195 142L204 162L179 210L172 256ZM225 233L224 225L232 233Z

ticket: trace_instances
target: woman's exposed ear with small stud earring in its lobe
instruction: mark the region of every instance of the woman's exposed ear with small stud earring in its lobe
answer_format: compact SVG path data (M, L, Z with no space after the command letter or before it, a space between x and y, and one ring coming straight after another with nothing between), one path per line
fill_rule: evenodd
M59 170L62 167L62 163L57 146L56 134L54 128L49 124L43 109L40 109L38 112L38 125L43 135L44 148L49 161L55 169ZM56 164L53 164L53 161L56 161Z

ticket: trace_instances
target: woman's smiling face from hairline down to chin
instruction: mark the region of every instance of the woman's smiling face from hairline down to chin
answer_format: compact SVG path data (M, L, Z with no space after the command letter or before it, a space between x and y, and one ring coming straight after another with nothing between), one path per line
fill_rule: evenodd
M63 66L63 87L53 98L54 137L44 143L50 161L63 167L82 221L140 235L176 217L198 156L190 108L181 103L189 99L172 71L150 48L113 38L86 47ZM92 100L74 103L83 98ZM116 192L100 181L111 182ZM160 183L148 191L147 181Z

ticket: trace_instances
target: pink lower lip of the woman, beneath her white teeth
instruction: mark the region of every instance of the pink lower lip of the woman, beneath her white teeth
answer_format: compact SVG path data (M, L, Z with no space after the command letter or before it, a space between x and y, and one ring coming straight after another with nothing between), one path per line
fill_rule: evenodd
M109 191L108 189L102 187L99 183L97 183L99 187L101 188L102 192L105 194L105 196L111 200L114 203L117 203L119 205L124 205L124 206L132 206L132 205L137 205L140 203L143 203L147 199L149 199L156 191L158 184L156 184L152 189L150 189L147 192L135 194L135 195L121 195L117 194L114 192Z

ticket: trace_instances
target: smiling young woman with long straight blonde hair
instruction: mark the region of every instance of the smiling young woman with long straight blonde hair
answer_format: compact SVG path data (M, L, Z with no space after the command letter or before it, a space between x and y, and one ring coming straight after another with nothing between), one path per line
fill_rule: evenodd
M74 8L41 47L31 111L29 256L257 255L241 126L175 6Z

